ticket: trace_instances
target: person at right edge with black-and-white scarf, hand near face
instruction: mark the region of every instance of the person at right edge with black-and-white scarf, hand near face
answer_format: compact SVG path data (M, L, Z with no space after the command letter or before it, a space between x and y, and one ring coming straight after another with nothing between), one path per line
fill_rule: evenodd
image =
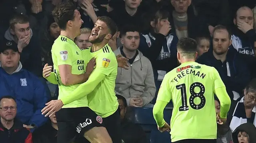
M243 97L238 99L236 108L231 111L230 129L232 132L243 123L256 126L256 78L244 88Z

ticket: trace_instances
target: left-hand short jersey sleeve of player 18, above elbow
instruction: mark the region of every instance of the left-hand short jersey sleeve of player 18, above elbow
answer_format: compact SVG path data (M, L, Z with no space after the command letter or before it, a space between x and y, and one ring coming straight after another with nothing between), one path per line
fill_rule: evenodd
M172 94L170 90L170 74L166 74L164 76L164 79L162 81L162 84L158 90L157 98L156 100L164 101L164 102L170 102L172 99Z

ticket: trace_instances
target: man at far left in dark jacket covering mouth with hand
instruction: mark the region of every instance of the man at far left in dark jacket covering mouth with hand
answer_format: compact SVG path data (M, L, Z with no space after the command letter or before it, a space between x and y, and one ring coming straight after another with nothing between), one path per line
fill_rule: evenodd
M42 76L42 61L39 41L30 29L28 17L16 15L10 20L10 28L4 34L4 40L15 41L20 52L23 68Z

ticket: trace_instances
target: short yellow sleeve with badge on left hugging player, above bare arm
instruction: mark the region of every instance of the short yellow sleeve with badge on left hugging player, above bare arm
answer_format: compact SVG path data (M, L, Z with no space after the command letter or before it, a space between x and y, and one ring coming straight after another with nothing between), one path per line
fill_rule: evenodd
M52 59L57 65L72 65L72 53L70 44L66 41L55 41L52 45Z

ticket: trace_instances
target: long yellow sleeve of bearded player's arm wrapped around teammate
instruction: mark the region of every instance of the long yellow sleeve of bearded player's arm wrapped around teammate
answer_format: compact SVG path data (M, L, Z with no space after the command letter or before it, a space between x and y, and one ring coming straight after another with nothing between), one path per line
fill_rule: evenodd
M80 84L72 92L72 94L69 94L68 96L64 96L63 98L60 98L60 100L63 102L64 105L66 105L88 95L105 78L105 76L106 75L103 74L100 70L95 69L95 71L92 72L92 74L90 75L90 77L86 82Z

